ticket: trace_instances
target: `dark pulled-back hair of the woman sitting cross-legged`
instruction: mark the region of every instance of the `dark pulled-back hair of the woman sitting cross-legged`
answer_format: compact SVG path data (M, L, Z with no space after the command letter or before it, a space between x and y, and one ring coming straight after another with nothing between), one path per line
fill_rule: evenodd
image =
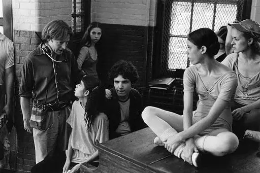
M188 41L196 45L199 49L206 46L207 54L214 57L218 53L219 43L216 33L210 28L200 28L188 34Z

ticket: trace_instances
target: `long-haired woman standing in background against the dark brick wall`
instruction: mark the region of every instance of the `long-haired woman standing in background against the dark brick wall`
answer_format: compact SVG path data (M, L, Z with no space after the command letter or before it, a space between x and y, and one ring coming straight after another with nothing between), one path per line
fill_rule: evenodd
M81 40L82 47L79 51L79 56L77 59L79 70L81 70L81 72L86 76L94 77L97 83L99 82L99 77L96 72L96 64L98 63L96 43L100 41L101 36L101 23L90 23Z

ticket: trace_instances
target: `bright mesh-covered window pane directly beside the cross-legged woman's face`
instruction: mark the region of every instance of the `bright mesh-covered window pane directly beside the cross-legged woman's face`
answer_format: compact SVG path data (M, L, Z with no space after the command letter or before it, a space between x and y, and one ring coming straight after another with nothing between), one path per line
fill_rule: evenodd
M168 69L182 68L187 66L186 52L187 39L171 37L169 43Z

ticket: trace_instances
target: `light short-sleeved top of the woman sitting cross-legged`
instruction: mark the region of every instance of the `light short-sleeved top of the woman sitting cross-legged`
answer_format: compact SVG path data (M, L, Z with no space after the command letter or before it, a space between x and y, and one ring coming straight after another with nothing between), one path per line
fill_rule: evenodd
M230 108L237 87L237 77L234 72L230 71L220 75L207 89L198 73L197 65L193 65L184 72L183 87L184 92L193 92L195 90L199 95L197 110L193 114L193 124L208 115L217 98L229 102L217 120L200 134L207 134L219 128L232 130Z

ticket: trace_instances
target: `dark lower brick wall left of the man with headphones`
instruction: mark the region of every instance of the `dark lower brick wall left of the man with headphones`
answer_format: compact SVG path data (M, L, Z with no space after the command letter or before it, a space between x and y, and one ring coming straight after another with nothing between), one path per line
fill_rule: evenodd
M40 43L34 31L14 30L15 66L16 66L16 95L21 81L22 65L26 55ZM20 98L16 97L15 127L17 131L17 172L30 172L35 165L35 148L32 134L23 128Z

